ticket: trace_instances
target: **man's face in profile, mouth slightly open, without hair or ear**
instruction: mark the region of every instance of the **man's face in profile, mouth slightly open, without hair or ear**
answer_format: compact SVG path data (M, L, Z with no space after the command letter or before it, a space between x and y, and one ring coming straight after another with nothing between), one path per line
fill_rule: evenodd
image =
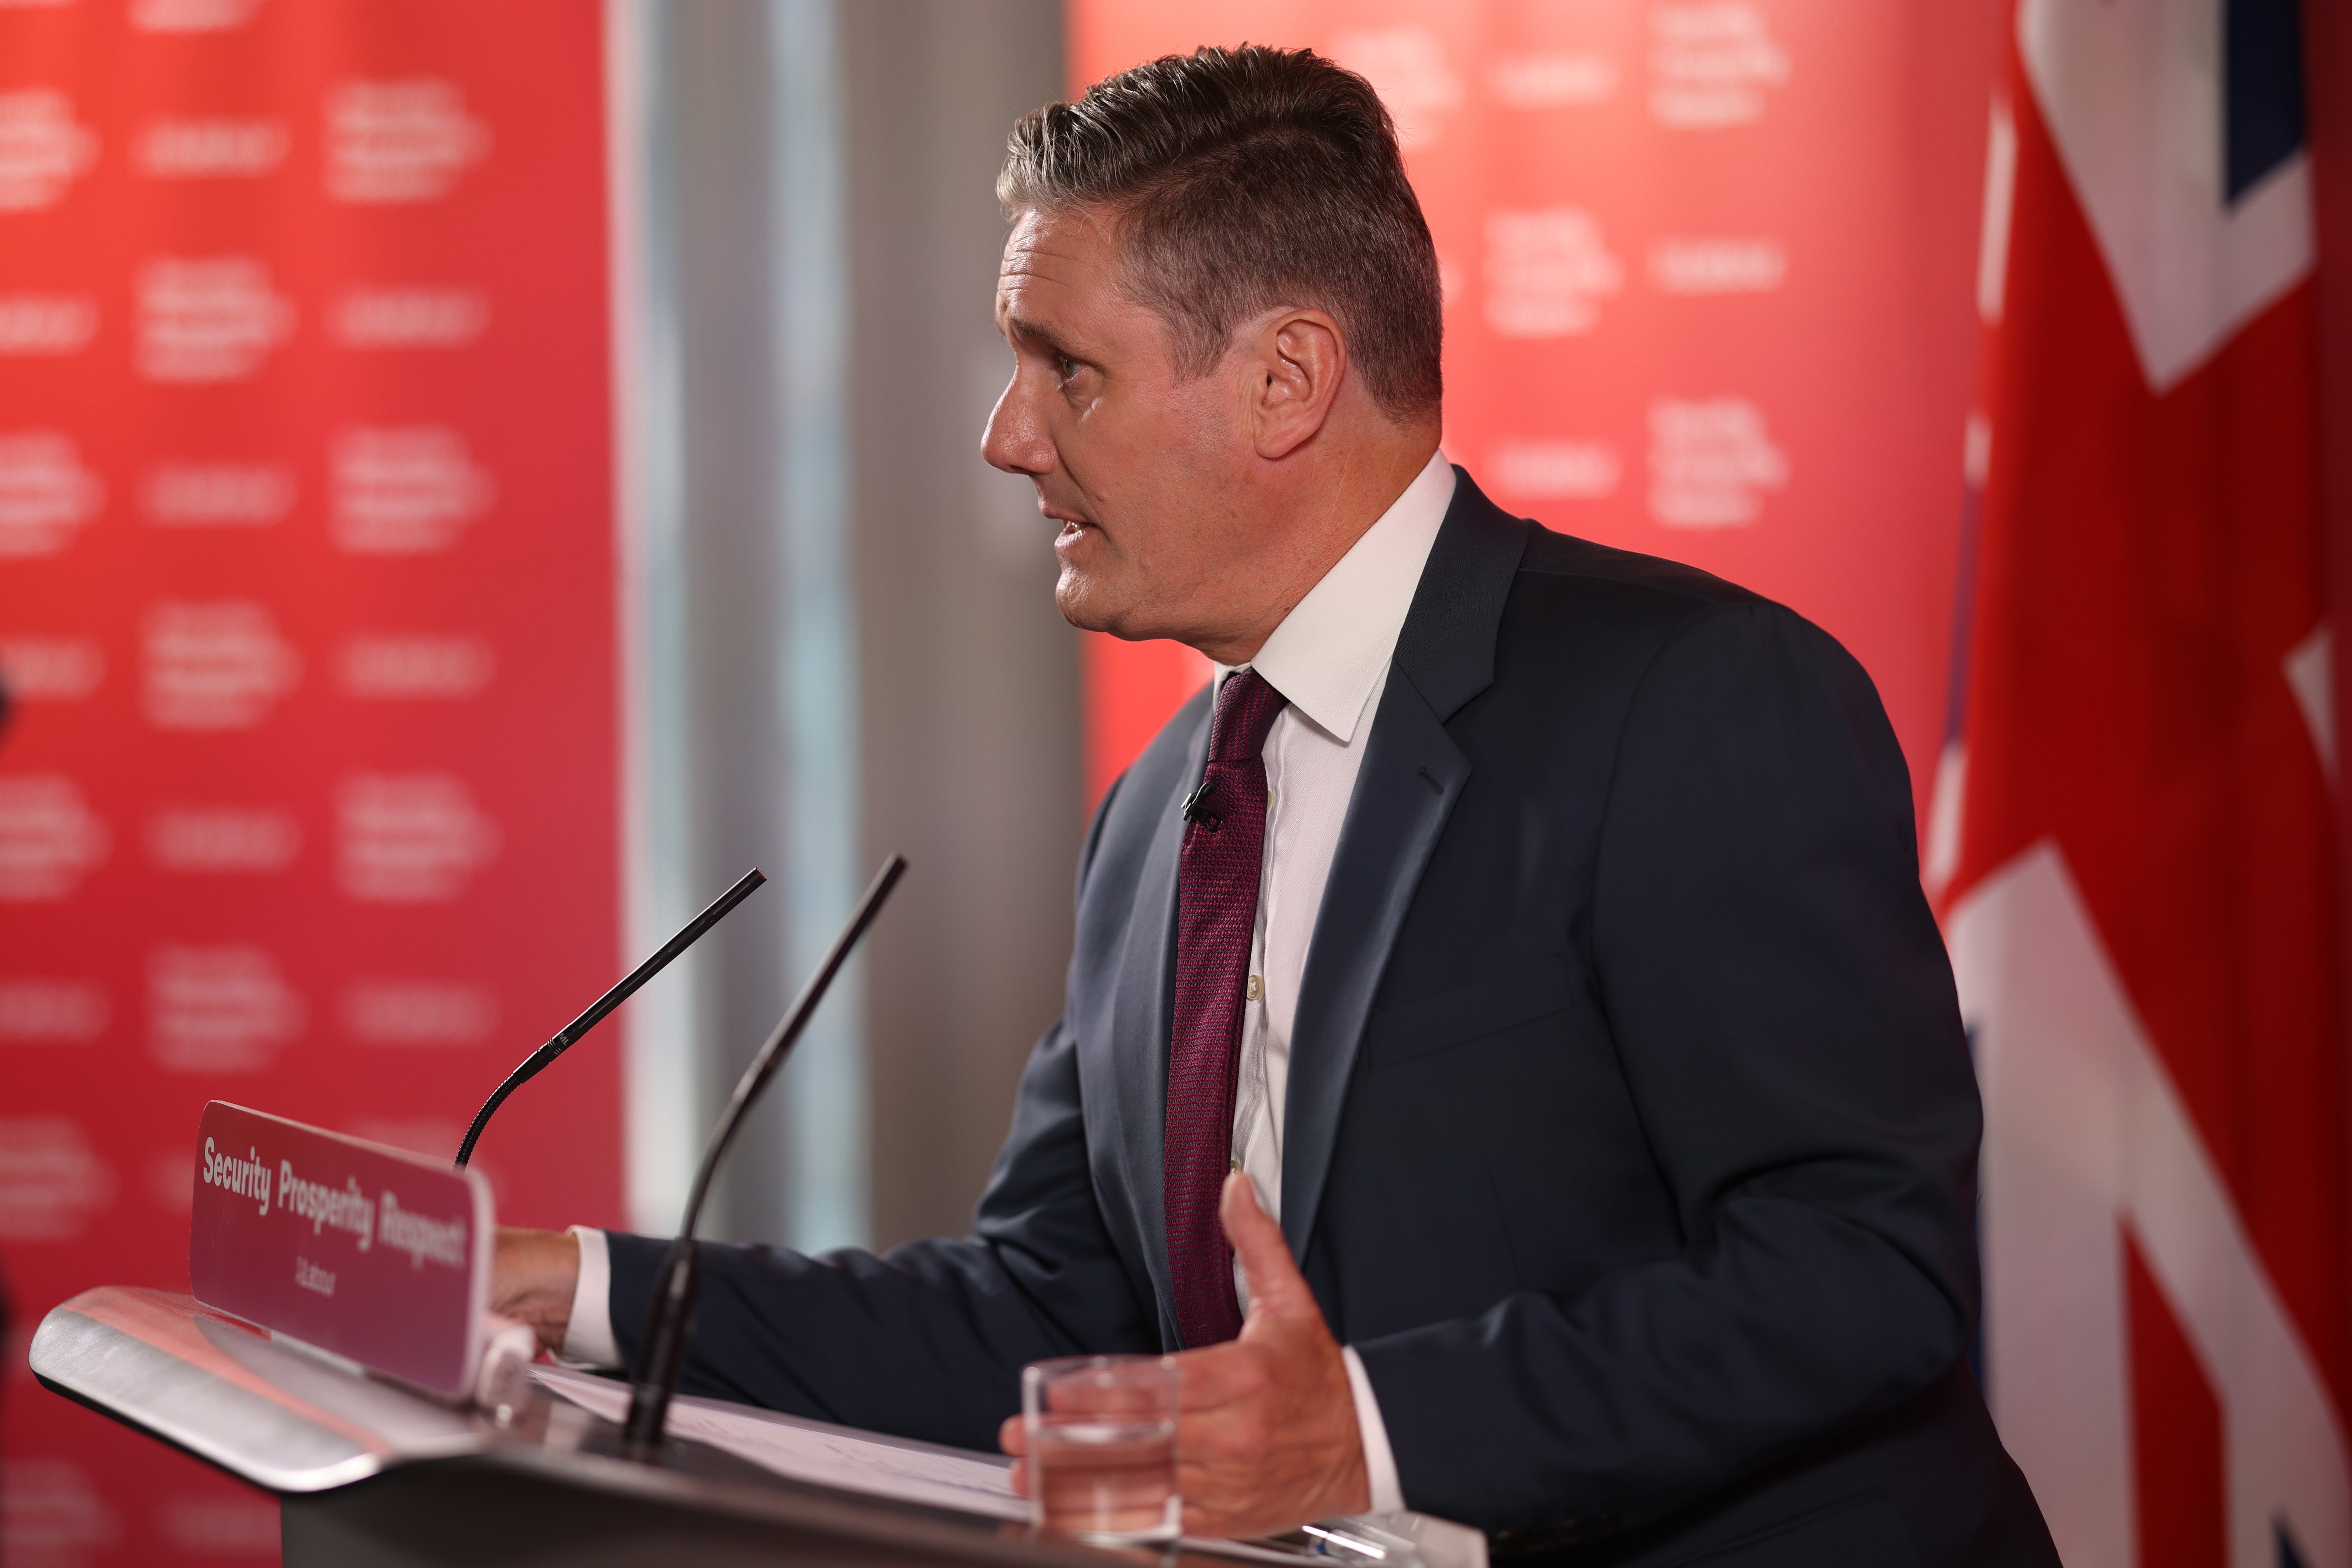
M981 456L1037 484L1061 524L1061 614L1120 637L1214 642L1258 592L1247 376L1178 378L1167 324L1120 289L1098 214L1025 214L1004 244L997 329L1014 378Z

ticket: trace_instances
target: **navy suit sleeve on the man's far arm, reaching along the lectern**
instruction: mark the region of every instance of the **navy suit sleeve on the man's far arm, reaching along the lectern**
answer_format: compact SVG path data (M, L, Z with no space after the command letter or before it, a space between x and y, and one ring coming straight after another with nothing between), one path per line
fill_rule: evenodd
M666 1248L612 1237L612 1326L630 1363ZM689 1394L995 1448L997 1422L1021 1406L1023 1363L1160 1349L1150 1293L1120 1260L1094 1197L1077 1051L1061 1023L1021 1077L974 1234L882 1255L708 1241L701 1251Z

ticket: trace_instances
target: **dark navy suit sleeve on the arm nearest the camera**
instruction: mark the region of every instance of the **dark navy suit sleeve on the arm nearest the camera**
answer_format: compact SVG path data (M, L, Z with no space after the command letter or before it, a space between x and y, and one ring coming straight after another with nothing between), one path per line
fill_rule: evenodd
M1661 1519L1919 1394L1976 1324L1976 1079L1860 665L1762 602L1670 637L1592 912L1682 1248L1357 1345L1406 1505L1486 1528Z

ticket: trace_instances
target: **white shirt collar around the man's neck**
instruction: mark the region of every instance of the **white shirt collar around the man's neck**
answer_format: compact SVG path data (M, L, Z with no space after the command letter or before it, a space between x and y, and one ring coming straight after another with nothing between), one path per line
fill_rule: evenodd
M1216 668L1218 682L1254 668L1317 729L1352 745L1449 505L1454 465L1439 451L1291 607L1254 661Z

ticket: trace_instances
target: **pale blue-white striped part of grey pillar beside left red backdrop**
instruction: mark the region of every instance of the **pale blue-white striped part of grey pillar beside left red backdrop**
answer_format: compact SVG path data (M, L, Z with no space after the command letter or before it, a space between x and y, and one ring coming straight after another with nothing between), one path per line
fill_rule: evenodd
M633 947L748 865L771 879L630 1020L633 1208L668 1229L856 891L840 56L830 0L621 16ZM729 1152L703 1234L863 1237L863 1138L840 1138L863 1133L861 1011L851 976Z

